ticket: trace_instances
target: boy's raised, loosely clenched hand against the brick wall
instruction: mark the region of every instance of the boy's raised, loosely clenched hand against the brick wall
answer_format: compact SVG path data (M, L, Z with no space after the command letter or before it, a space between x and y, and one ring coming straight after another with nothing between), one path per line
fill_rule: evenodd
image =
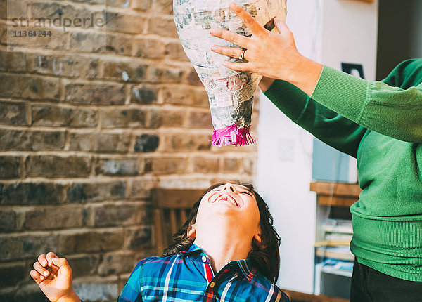
M80 301L73 291L72 268L65 258L58 258L52 252L47 255L41 254L34 263L34 270L31 270L30 275L50 301Z

